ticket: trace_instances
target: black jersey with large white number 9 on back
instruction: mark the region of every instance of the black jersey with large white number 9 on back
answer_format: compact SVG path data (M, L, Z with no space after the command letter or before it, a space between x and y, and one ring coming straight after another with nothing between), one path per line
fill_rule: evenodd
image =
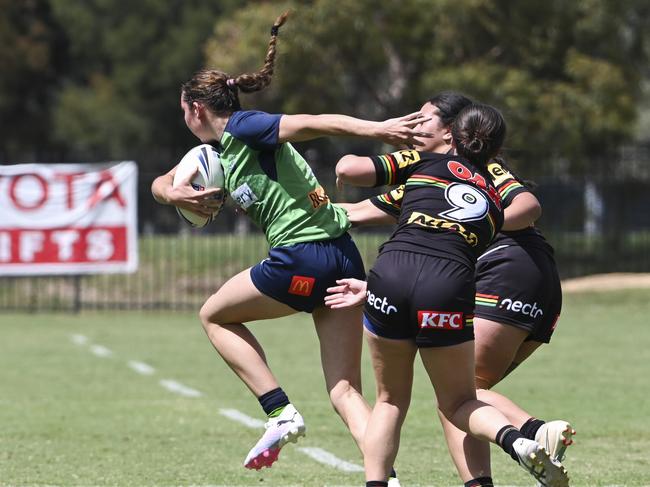
M460 156L414 150L372 161L376 186L404 185L398 226L382 251L408 250L473 267L503 223L501 198L487 173ZM392 204L399 190L384 196Z

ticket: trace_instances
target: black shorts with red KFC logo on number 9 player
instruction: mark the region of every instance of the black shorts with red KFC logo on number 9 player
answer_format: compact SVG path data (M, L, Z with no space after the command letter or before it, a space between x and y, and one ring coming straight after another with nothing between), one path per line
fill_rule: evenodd
M383 338L443 347L474 339L474 272L456 261L383 252L368 273L364 326Z

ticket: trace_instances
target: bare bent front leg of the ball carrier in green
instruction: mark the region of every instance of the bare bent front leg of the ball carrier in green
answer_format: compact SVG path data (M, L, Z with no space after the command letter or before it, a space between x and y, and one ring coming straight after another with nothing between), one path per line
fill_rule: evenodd
M279 318L296 310L257 290L250 269L240 272L210 296L200 311L201 323L214 348L255 397L278 386L264 350L242 323Z

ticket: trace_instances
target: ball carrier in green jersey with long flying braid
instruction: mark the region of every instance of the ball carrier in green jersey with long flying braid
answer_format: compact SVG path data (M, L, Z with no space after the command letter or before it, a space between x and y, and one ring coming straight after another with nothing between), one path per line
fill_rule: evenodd
M224 190L264 231L269 257L246 269L210 296L200 318L214 348L258 398L269 417L266 431L244 465L259 469L277 459L280 448L304 435L301 415L266 363L261 345L243 323L305 311L312 314L330 400L361 448L370 408L361 395L361 310L324 306L336 279L365 272L347 230L345 211L331 204L310 167L290 142L326 135L374 137L393 145L427 136L413 127L419 113L384 122L343 115L271 115L242 110L238 92L266 87L273 74L280 16L272 30L264 67L230 77L215 70L195 74L181 89L188 128L218 148ZM157 201L209 214L216 190L172 187L175 169L152 184ZM289 338L290 339L290 338Z

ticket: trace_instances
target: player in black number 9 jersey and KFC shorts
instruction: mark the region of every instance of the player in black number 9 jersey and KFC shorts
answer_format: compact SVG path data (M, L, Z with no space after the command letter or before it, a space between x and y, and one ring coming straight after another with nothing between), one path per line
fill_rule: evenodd
M387 485L418 351L449 422L499 444L542 485L568 485L566 470L540 443L476 398L474 267L502 223L487 163L500 149L505 122L492 107L470 105L451 135L459 155L400 151L345 156L337 165L344 182L405 183L398 228L380 249L367 291L353 290L366 295L364 326L377 380L364 438L366 485Z

